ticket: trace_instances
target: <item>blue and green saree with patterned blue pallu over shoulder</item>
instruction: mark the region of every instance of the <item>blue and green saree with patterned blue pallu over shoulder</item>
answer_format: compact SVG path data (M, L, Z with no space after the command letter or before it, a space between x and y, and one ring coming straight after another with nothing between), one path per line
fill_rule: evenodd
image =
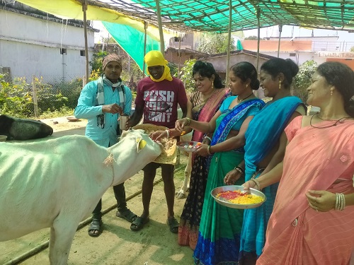
M217 129L212 138L212 145L226 139L233 124L239 124L254 115L263 107L261 100L248 100L234 107L228 113L223 113L217 119ZM243 148L241 148L243 150ZM205 189L205 199L200 220L198 243L193 257L195 264L204 265L236 265L239 258L239 235L243 220L243 210L227 208L212 198L210 192L216 187L224 186L224 176L244 159L244 153L226 151L212 156ZM244 179L235 183L241 185Z

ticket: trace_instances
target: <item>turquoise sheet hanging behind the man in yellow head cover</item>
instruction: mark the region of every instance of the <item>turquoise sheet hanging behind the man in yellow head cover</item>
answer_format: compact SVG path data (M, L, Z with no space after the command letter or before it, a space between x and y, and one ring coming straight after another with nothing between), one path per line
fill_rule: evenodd
M120 25L102 21L108 33L113 39L132 57L139 68L143 71L144 65L144 33L129 25ZM147 35L146 52L160 50L160 42L153 40Z

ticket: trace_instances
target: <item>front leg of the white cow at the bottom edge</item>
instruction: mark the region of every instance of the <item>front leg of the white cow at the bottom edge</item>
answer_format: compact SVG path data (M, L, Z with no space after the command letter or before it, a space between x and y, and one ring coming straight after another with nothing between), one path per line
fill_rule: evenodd
M50 228L49 260L51 265L67 265L78 224L79 221L67 218L57 218L54 221Z

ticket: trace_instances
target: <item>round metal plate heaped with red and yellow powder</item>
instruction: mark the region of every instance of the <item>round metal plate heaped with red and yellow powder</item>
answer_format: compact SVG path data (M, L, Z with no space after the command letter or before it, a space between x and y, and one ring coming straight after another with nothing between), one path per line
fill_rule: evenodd
M244 192L243 186L229 185L213 189L211 195L217 203L238 209L256 208L266 200L263 192L252 188L249 191Z

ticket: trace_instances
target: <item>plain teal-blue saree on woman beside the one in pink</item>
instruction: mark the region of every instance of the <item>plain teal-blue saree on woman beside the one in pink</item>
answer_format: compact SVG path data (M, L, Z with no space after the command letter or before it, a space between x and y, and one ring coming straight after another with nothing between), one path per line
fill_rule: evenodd
M245 145L245 181L258 177L257 165L278 143L287 122L302 101L293 96L281 98L266 105L249 123ZM257 174L258 172L258 174ZM254 175L254 176L253 176ZM258 208L244 211L244 223L241 231L240 257L256 254L259 257L265 244L265 229L273 211L278 184L265 187L262 192L267 196L264 204ZM246 253L248 252L248 253Z

